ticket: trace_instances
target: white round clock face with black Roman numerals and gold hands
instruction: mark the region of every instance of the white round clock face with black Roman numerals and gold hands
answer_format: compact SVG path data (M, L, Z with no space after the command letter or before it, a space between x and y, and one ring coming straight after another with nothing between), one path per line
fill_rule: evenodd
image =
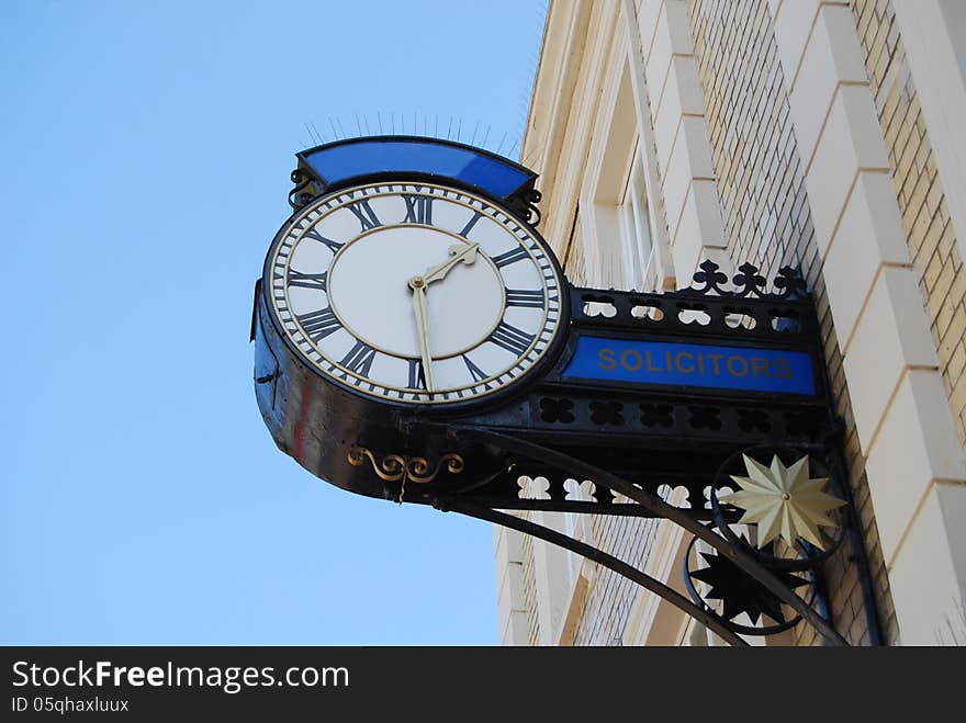
M313 201L279 231L263 283L306 363L395 403L506 389L561 331L561 275L542 241L491 201L436 184Z

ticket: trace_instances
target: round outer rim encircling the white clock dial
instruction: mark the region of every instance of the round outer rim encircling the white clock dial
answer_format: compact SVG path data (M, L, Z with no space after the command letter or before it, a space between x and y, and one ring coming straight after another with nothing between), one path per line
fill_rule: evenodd
M514 380L508 383L502 384L499 388L490 392L487 394L474 395L471 397L457 398L454 400L442 400L442 402L414 402L414 400L404 400L404 399L392 399L390 397L378 396L373 394L367 394L364 392L359 391L351 384L346 384L345 382L336 379L335 376L330 376L324 373L322 370L317 369L316 365L305 357L301 349L292 341L289 335L285 332L285 329L281 326L280 319L278 317L278 313L272 304L271 300L271 282L272 282L272 259L274 256L274 251L278 246L281 244L282 239L288 235L289 230L296 223L296 219L302 216L311 213L308 211L310 206L317 204L319 201L327 199L329 196L336 196L347 191L350 191L356 188L362 187L371 187L373 184L391 184L391 183L409 183L409 184L428 184L437 188L448 189L451 191L458 191L460 193L465 193L472 196L478 196L482 201L486 202L490 205L498 208L501 213L505 214L507 217L512 218L514 222L518 223L523 226L528 235L537 242L538 246L541 247L544 257L547 257L548 262L553 268L553 271L558 278L559 284L559 294L560 294L560 310L559 318L557 323L557 329L551 338L550 342L547 344L543 353L540 354L540 358L533 362L525 372L523 372L518 376L518 381ZM326 190L325 193L321 193L310 201L307 201L300 208L295 210L289 217L282 223L279 227L278 231L276 231L272 237L271 242L269 244L268 250L265 256L265 261L262 263L262 273L261 273L261 283L259 284L261 287L261 297L265 303L267 316L269 317L269 321L272 325L273 330L277 336L281 339L282 343L285 347L285 350L293 357L293 359L302 366L304 366L308 372L324 382L330 384L334 388L349 394L355 399L362 399L364 402L374 404L381 408L392 408L397 411L411 413L411 414L434 414L434 415L442 415L447 413L457 413L462 409L473 408L480 409L484 406L492 405L496 402L505 402L507 397L514 395L521 395L527 388L529 388L535 382L540 379L540 373L546 372L548 368L551 368L552 364L558 360L561 352L565 349L566 339L569 338L569 329L570 329L570 320L571 320L571 309L570 309L570 289L571 284L566 279L566 275L563 272L563 268L560 264L560 261L557 258L557 255L553 252L553 249L550 247L550 244L543 238L543 236L529 223L524 221L519 214L514 212L512 208L507 207L506 204L499 200L495 199L485 193L481 193L479 189L468 183L460 183L456 181L451 181L450 179L446 179L445 181L440 180L439 177L434 177L431 174L420 174L420 173L407 173L405 176L392 174L392 173L377 173L369 177L357 177L352 179L351 183L348 184L339 184L338 187L330 187Z

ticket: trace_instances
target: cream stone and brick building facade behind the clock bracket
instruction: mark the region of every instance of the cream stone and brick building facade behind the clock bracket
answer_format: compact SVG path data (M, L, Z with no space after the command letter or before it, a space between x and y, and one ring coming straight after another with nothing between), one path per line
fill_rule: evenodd
M555 0L527 121L575 284L674 290L705 259L806 278L873 583L849 545L825 566L854 645L870 606L886 644L966 644L964 39L958 0ZM529 515L683 589L690 540L666 521ZM494 538L504 644L719 642L586 560ZM804 624L765 641L821 644Z

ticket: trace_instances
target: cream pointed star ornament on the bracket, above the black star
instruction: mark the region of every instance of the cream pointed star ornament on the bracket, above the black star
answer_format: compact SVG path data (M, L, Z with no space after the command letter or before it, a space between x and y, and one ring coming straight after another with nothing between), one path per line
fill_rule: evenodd
M780 534L788 544L802 538L823 549L819 526L835 527L825 512L845 502L821 490L828 482L827 477L809 479L808 455L786 467L776 454L771 468L746 454L742 454L742 457L748 476L731 475L741 486L741 492L719 499L745 510L739 523L757 523L759 547L764 547Z

